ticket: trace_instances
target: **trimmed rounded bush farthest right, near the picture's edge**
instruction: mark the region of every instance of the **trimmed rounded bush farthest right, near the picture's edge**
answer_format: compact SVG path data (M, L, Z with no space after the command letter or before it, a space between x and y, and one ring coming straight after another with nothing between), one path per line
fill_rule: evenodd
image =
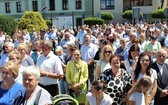
M154 10L154 11L152 12L152 18L159 18L159 19L166 18L166 17L164 16L164 9Z

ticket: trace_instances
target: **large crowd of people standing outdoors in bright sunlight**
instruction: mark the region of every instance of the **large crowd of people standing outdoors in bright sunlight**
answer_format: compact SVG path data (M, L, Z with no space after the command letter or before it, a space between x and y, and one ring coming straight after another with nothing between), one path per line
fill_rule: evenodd
M0 32L0 104L168 105L168 24Z

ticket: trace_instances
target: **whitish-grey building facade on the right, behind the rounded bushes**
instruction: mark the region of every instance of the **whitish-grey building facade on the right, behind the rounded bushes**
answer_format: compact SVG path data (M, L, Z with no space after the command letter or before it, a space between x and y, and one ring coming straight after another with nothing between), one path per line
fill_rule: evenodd
M103 11L113 13L114 19L111 23L123 23L122 13L125 10L140 8L144 14L143 21L151 20L151 13L158 9L158 0L94 0L94 14L99 16Z

